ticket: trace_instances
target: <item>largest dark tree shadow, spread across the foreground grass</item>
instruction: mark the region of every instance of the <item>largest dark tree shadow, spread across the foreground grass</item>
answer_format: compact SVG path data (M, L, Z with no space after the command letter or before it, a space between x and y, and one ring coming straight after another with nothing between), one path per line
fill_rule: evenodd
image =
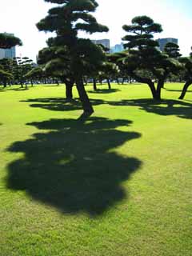
M26 190L35 200L63 213L84 212L92 217L103 214L127 197L122 182L142 164L138 158L115 151L141 137L135 132L115 130L130 124L106 118L90 118L85 123L51 119L28 124L44 133L15 142L8 149L24 153L8 166L8 188Z

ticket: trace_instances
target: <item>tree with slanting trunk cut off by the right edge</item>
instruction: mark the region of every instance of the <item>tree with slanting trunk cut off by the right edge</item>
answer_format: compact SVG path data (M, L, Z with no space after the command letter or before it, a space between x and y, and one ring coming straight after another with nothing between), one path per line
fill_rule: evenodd
M182 94L179 97L179 99L183 99L186 96L186 91L192 84L192 53L190 54L190 58L180 58L180 62L182 63L183 66L184 79L186 81L182 89Z

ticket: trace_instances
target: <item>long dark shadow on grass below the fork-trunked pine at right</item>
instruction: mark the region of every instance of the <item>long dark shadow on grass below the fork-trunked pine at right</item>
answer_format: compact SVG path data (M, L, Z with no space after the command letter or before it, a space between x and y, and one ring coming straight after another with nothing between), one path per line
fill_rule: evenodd
M142 110L161 115L176 115L179 118L192 118L192 104L179 100L155 101L150 98L137 100L122 100L121 102L108 102L113 106L138 106Z

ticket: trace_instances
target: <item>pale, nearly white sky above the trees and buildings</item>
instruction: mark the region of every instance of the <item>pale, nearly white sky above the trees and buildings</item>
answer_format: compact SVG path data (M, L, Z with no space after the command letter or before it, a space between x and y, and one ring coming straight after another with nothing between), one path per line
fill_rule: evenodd
M148 15L154 22L162 24L163 32L155 38L178 38L183 55L190 53L192 46L192 1L191 0L98 0L95 13L98 22L109 26L110 32L83 37L110 38L111 46L121 42L124 35L122 25L129 24L137 15ZM38 32L35 24L46 16L53 6L44 0L1 0L0 31L14 33L22 39L23 46L17 54L35 60L38 50L46 46L50 34Z

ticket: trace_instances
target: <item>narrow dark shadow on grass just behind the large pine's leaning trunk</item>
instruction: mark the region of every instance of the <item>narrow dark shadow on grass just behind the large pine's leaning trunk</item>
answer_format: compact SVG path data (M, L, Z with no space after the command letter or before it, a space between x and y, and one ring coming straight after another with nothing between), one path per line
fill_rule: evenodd
M21 102L34 102L30 104L31 107L40 107L46 110L53 111L71 111L82 110L82 103L77 99L72 102L66 100L66 98L32 98ZM105 102L100 99L90 99L93 106L104 104Z

